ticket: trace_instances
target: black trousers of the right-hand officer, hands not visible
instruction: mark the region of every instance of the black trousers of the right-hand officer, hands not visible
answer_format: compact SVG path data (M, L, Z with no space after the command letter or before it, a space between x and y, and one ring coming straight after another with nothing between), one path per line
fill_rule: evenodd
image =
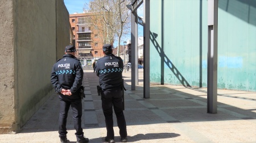
M105 116L107 137L114 139L113 106L117 116L117 126L120 136L127 137L125 115L123 115L122 90L106 90L101 92L102 110Z

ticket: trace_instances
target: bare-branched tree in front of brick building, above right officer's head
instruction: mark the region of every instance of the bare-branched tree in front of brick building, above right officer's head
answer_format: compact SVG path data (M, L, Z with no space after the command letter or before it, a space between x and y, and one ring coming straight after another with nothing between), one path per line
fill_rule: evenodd
M102 44L113 44L116 39L118 40L118 56L122 36L130 33L130 11L126 8L129 3L130 0L90 0L89 2L90 11L93 12L94 31L100 33Z

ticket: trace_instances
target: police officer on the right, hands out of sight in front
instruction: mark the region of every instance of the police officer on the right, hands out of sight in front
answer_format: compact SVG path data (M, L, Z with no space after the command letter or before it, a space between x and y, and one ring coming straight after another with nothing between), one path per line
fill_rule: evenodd
M117 116L117 125L122 142L127 142L125 115L122 105L122 71L123 61L112 54L112 45L105 44L102 48L104 58L96 63L96 74L100 77L102 110L105 116L107 136L105 141L114 142L113 109Z

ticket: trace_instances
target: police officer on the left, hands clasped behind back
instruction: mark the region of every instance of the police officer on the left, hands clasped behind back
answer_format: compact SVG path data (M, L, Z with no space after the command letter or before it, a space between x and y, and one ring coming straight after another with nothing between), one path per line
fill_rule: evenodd
M51 73L51 83L55 92L60 98L60 115L59 115L59 137L61 142L67 142L67 116L71 106L73 111L74 127L76 129L77 143L88 142L89 139L84 137L81 128L82 102L79 95L80 86L82 85L82 70L79 59L75 57L76 47L69 45L65 47L65 55L62 59L57 60L53 65Z

